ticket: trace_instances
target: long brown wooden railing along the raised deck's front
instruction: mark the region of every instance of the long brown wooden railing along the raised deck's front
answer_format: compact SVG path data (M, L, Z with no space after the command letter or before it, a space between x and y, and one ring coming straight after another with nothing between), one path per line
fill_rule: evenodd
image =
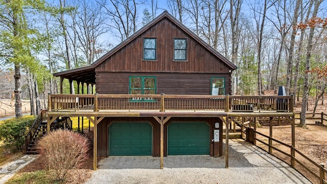
M283 111L293 112L292 96L229 95L49 95L49 111Z

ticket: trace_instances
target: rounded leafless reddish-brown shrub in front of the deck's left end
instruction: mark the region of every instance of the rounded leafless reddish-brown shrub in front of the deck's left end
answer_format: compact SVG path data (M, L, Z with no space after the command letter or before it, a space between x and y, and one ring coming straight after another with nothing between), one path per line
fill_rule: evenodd
M64 181L69 170L81 165L88 156L87 138L80 133L56 130L43 136L38 142L40 153L46 158L49 170L58 181Z

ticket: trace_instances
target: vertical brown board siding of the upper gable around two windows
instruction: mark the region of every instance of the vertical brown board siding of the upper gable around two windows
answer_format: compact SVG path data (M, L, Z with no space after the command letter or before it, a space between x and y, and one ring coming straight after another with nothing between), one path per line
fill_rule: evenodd
M156 38L156 60L143 60L143 38ZM187 60L174 61L174 38L187 39ZM164 18L96 67L96 72L228 73L229 66Z

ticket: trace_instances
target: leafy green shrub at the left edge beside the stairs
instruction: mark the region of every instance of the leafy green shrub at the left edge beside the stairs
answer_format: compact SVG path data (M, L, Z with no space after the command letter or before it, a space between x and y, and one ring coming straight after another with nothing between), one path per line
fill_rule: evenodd
M33 117L5 120L0 124L0 140L13 152L20 151L34 120Z

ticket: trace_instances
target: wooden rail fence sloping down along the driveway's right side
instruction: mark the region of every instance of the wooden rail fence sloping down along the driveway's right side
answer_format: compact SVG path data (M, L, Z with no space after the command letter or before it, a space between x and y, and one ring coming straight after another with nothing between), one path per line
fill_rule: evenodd
M260 147L260 148L264 149L265 151L269 152L270 154L273 154L273 152L272 152L273 150L278 151L280 154L273 154L273 155L278 157L279 159L284 160L285 162L286 162L286 160L283 158L283 156L290 158L290 163L288 163L288 162L287 163L290 164L291 167L293 167L297 170L300 170L302 172L302 174L304 174L306 176L308 176L308 173L311 174L312 176L314 176L317 179L317 181L319 180L320 184L327 184L327 179L325 178L327 170L326 170L324 164L317 164L311 158L309 158L308 156L306 156L305 154L303 154L299 150L297 150L295 147L288 145L286 143L283 143L281 141L278 141L278 140L276 140L268 135L265 135L261 132L258 132L256 130L254 130L253 128L242 125L241 129L242 129L242 139L244 139L247 142L250 142L256 146L258 146L256 144L256 141L260 142L262 145L266 146L266 148L268 147L268 150L264 149L263 147ZM257 134L264 138L259 139L258 136L256 136ZM281 146L286 147L286 149L288 149L289 151L283 151L282 149L277 148L277 146L273 146L274 144L276 145L276 143ZM305 161L301 162L299 157L304 158ZM300 169L300 167L298 167L297 164L299 166L301 166L302 168L304 168L305 170ZM305 173L303 171L307 171L307 173Z

